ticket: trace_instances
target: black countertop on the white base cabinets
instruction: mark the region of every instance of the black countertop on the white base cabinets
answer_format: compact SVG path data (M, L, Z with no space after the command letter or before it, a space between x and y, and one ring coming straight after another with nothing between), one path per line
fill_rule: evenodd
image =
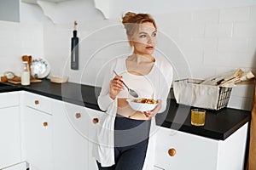
M1 87L0 93L17 90L25 90L101 111L96 101L96 96L101 90L99 87L73 82L57 84L44 79L43 82L32 83L26 87L20 85ZM211 139L224 140L250 120L250 111L231 108L224 108L220 111L207 110L205 126L195 127L190 124L190 109L191 107L186 105L177 105L175 99L168 99L166 111L156 116L156 124Z

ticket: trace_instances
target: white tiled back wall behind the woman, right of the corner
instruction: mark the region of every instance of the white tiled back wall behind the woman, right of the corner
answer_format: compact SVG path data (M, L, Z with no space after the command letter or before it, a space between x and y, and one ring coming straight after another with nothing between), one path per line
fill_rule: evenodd
M159 51L166 54L172 61L177 71L176 79L183 77L207 78L236 68L255 71L256 26L253 23L256 20L255 10L255 6L251 6L154 15L161 34ZM119 24L119 21L113 21L113 23ZM46 58L55 63L54 65L58 65L55 66L55 69L53 68L52 74L64 73L68 74L73 82L100 86L102 66L109 59L131 53L127 42L115 42L125 41L125 33L121 26L114 26L117 31L103 28L105 25L113 26L113 23L109 24L105 21L105 24L96 26L95 29L93 29L92 23L90 31L85 26L83 29L83 24L80 26L80 39L83 39L80 44L80 48L83 48L80 52L80 65L85 66L82 66L79 71L70 71L69 69L70 44L68 41L72 28L67 28L67 26L67 30L63 29L65 26L45 28L44 38L47 40L45 42L58 41L59 48L57 49L60 49L60 43L64 47L61 51L56 48L49 51L46 48L50 48L50 43L44 44ZM90 35L92 31L96 31L96 33ZM91 37L87 37L88 35ZM174 43L165 43L165 38L161 38L163 36ZM63 37L66 41L63 41ZM164 42L161 42L162 40ZM174 47L175 44L177 47ZM170 52L163 48L163 45L167 48L168 46L176 48L176 51ZM50 46L55 47L54 45ZM90 61L89 65L86 65L87 61ZM60 68L60 65L65 65L62 66L61 72L57 69ZM183 74L184 68L186 73ZM252 85L241 85L233 88L230 107L250 110L253 99L252 87Z

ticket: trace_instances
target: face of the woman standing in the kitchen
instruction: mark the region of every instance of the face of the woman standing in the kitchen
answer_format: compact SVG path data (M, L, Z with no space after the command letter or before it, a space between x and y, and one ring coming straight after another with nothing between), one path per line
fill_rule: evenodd
M151 55L156 45L156 29L151 22L144 22L137 33L131 37L134 54Z

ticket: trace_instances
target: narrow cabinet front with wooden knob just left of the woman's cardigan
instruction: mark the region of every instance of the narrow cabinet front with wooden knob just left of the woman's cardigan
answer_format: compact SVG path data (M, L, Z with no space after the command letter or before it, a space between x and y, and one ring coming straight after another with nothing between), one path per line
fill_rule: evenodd
M104 112L102 111L96 111L89 108L86 108L86 112L89 115L89 163L88 163L88 169L90 170L97 170L97 164L95 158L92 156L92 148L93 144L96 143L96 127L100 126L100 123L102 121L102 116Z

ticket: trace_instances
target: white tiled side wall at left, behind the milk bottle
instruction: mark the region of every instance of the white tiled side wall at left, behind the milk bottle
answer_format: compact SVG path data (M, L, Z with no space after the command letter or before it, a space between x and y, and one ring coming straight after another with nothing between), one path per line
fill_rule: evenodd
M22 55L42 57L44 54L43 26L0 21L0 75L21 71Z

